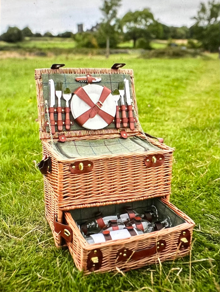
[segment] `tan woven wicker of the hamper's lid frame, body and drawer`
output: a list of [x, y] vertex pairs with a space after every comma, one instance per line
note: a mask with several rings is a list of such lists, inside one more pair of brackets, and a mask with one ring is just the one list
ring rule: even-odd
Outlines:
[[[52, 160], [52, 171], [44, 175], [44, 195], [45, 213], [53, 232], [56, 246], [67, 244], [74, 258], [74, 262], [80, 270], [91, 273], [87, 267], [87, 259], [91, 250], [99, 248], [103, 254], [102, 267], [100, 272], [114, 270], [117, 266], [120, 269], [128, 270], [139, 268], [145, 264], [150, 264], [165, 259], [174, 259], [183, 256], [190, 251], [187, 249], [180, 251], [178, 246], [179, 234], [182, 230], [188, 229], [192, 235], [194, 222], [169, 203], [171, 189], [172, 154], [173, 149], [146, 138], [141, 131], [141, 126], [136, 122], [134, 131], [129, 128], [116, 129], [104, 128], [101, 130], [71, 130], [55, 132], [52, 135], [54, 142], [58, 141], [58, 136], [64, 134], [66, 141], [108, 139], [120, 137], [120, 130], [127, 132], [128, 136], [139, 136], [158, 147], [158, 150], [138, 153], [97, 155], [91, 157], [77, 157], [64, 159], [50, 144], [50, 133], [45, 126], [45, 106], [43, 97], [43, 84], [41, 74], [129, 74], [131, 78], [131, 89], [133, 92], [134, 109], [137, 113], [137, 103], [135, 97], [134, 76], [130, 69], [96, 69], [96, 68], [64, 68], [64, 69], [36, 69], [36, 89], [38, 102], [38, 119], [40, 123], [40, 139], [42, 140], [43, 155], [47, 154]], [[144, 160], [146, 155], [164, 156], [164, 163], [157, 167], [146, 167]], [[70, 172], [71, 165], [76, 161], [91, 160], [93, 169], [91, 172], [73, 174]], [[127, 202], [141, 201], [148, 198], [163, 197], [161, 200], [168, 205], [176, 214], [185, 220], [185, 223], [178, 226], [143, 234], [125, 240], [108, 241], [99, 245], [89, 245], [81, 235], [69, 210], [78, 208], [99, 207], [110, 204], [120, 204]], [[54, 231], [53, 219], [57, 214], [57, 221], [69, 224], [73, 231], [73, 241], [65, 242], [59, 234]], [[115, 252], [120, 248], [131, 250], [144, 249], [147, 246], [156, 244], [159, 239], [167, 242], [167, 247], [160, 254], [141, 259], [139, 261], [128, 260], [127, 262], [117, 262]], [[190, 242], [191, 242], [190, 237]]]

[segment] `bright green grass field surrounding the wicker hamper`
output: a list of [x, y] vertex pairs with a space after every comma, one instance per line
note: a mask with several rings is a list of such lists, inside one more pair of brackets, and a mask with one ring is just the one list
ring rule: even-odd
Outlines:
[[[175, 147], [171, 202], [195, 222], [190, 257], [84, 276], [44, 217], [34, 68], [133, 68], [144, 130]], [[0, 59], [0, 291], [220, 291], [219, 68], [216, 58], [59, 56]]]

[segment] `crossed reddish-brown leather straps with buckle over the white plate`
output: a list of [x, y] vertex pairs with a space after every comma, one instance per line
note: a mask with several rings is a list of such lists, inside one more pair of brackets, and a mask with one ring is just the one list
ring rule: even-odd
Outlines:
[[[91, 107], [88, 111], [84, 112], [82, 115], [78, 116], [75, 121], [84, 125], [89, 118], [92, 118], [98, 114], [101, 118], [109, 125], [113, 121], [114, 117], [109, 115], [107, 112], [101, 110], [102, 103], [106, 100], [107, 96], [111, 93], [111, 90], [103, 86], [102, 93], [96, 104], [90, 99], [89, 95], [85, 92], [83, 87], [79, 87], [74, 91], [74, 94], [78, 95], [81, 100], [83, 100], [87, 105]], [[101, 103], [100, 103], [101, 102]], [[97, 108], [97, 109], [96, 109]], [[92, 113], [93, 112], [93, 113]], [[92, 117], [91, 117], [92, 113]], [[93, 116], [94, 115], [94, 116]]]

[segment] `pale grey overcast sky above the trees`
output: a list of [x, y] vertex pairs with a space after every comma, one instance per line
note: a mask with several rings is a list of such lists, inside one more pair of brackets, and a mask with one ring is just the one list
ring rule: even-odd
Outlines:
[[[99, 22], [102, 0], [0, 0], [0, 33], [8, 26], [23, 29], [29, 26], [32, 32], [50, 31], [57, 35], [64, 31], [77, 31], [83, 23], [84, 30]], [[173, 26], [191, 26], [201, 0], [122, 0], [118, 16], [129, 10], [150, 8], [155, 19]], [[207, 3], [208, 0], [202, 0]]]

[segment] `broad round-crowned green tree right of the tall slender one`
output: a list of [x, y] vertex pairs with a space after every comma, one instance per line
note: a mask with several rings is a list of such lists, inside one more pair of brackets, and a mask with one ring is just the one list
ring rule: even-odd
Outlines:
[[148, 8], [142, 11], [129, 11], [124, 15], [121, 23], [125, 31], [125, 39], [133, 40], [134, 47], [139, 38], [150, 42], [151, 39], [162, 36], [162, 25], [154, 19]]

